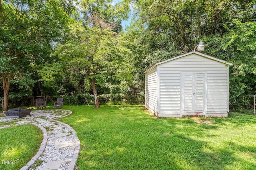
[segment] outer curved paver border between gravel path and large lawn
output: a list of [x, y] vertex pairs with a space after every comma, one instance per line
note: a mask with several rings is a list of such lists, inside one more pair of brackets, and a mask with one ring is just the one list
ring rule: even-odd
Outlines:
[[72, 131], [72, 135], [73, 135], [73, 138], [74, 138], [74, 141], [75, 141], [75, 150], [74, 150], [74, 153], [73, 153], [73, 156], [72, 156], [72, 160], [71, 160], [71, 162], [68, 166], [68, 170], [74, 170], [74, 168], [76, 166], [76, 161], [77, 161], [77, 158], [78, 158], [78, 153], [80, 151], [80, 140], [76, 136], [76, 131], [70, 125], [68, 125], [66, 123], [63, 123], [61, 121], [58, 121], [58, 120], [54, 120], [54, 121], [66, 126], [70, 131]]

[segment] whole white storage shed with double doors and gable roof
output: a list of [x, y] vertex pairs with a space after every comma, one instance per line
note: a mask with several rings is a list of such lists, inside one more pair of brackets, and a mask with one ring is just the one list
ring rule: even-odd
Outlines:
[[231, 65], [194, 51], [154, 64], [144, 72], [146, 109], [157, 117], [227, 117]]

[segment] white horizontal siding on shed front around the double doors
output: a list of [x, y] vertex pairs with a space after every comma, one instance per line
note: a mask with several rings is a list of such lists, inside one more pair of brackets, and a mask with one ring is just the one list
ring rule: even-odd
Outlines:
[[224, 63], [196, 54], [184, 56], [159, 65], [161, 116], [180, 112], [180, 72], [206, 73], [206, 112], [227, 113], [228, 82]]

